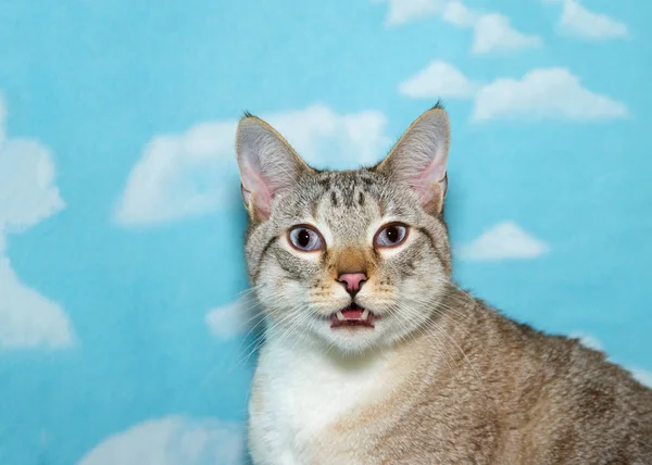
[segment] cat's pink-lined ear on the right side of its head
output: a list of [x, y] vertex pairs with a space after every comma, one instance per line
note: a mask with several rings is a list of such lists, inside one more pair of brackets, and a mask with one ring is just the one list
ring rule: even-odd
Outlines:
[[422, 206], [437, 215], [448, 188], [449, 142], [448, 114], [436, 105], [410, 125], [376, 169], [412, 187]]

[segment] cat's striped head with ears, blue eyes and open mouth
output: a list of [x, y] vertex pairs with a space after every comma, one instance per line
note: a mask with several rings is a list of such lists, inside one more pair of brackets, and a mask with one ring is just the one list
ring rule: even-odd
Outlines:
[[351, 353], [428, 322], [451, 273], [443, 109], [424, 113], [383, 162], [359, 171], [310, 167], [249, 115], [236, 149], [248, 271], [268, 327]]

